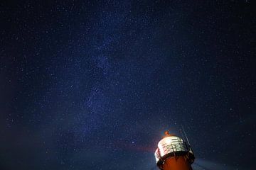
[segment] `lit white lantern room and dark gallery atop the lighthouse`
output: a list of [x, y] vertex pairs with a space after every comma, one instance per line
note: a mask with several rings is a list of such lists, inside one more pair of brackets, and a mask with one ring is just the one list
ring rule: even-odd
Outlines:
[[166, 159], [171, 157], [186, 157], [188, 164], [192, 164], [195, 157], [190, 145], [181, 137], [170, 135], [168, 131], [165, 134], [164, 138], [159, 141], [154, 153], [159, 168], [161, 169]]

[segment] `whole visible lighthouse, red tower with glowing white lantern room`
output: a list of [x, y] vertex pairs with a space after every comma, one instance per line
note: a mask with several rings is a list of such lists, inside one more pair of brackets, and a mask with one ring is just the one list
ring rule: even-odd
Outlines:
[[181, 137], [165, 132], [155, 152], [156, 164], [161, 170], [192, 170], [193, 151]]

